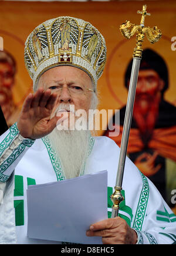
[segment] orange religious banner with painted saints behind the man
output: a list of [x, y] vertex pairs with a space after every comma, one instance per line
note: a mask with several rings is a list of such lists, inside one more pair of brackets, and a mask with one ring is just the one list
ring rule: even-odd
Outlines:
[[[93, 24], [107, 44], [107, 63], [97, 91], [99, 109], [113, 109], [97, 135], [113, 139], [120, 147], [126, 111], [133, 49], [136, 36], [125, 39], [120, 25], [127, 20], [140, 24], [143, 4], [147, 5], [145, 26], [161, 29], [159, 42], [143, 43], [136, 100], [131, 122], [127, 154], [163, 195], [172, 209], [176, 202], [176, 2], [8, 2], [0, 1], [0, 104], [6, 123], [16, 122], [25, 97], [32, 92], [32, 79], [24, 64], [27, 36], [42, 22], [58, 16], [71, 16]], [[63, 32], [65, 29], [66, 32]], [[69, 47], [70, 24], [63, 21], [59, 33], [62, 47]], [[128, 23], [126, 23], [128, 29]], [[37, 35], [37, 31], [36, 31]], [[42, 58], [37, 36], [33, 36], [39, 58]], [[93, 32], [92, 47], [96, 47]], [[2, 51], [3, 50], [3, 51]], [[64, 56], [63, 56], [64, 58]], [[88, 57], [87, 57], [88, 58]], [[116, 118], [119, 115], [120, 120]], [[110, 113], [110, 112], [109, 112]], [[116, 133], [113, 134], [110, 125]], [[114, 177], [116, 179], [116, 177]]]

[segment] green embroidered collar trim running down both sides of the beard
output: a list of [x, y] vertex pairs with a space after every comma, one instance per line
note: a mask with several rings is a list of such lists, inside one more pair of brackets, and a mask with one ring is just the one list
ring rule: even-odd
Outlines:
[[[64, 172], [62, 170], [62, 165], [60, 163], [59, 157], [57, 157], [55, 150], [52, 148], [52, 145], [50, 144], [49, 137], [46, 136], [42, 138], [43, 143], [46, 146], [46, 149], [48, 150], [50, 161], [52, 162], [53, 169], [56, 173], [57, 181], [62, 181], [65, 179]], [[87, 157], [89, 157], [90, 153], [92, 152], [92, 148], [94, 145], [94, 138], [92, 136], [89, 137], [89, 147], [87, 151]], [[86, 159], [87, 159], [86, 157]], [[84, 175], [84, 168], [86, 165], [86, 161], [84, 162], [84, 165], [80, 171], [80, 176]]]

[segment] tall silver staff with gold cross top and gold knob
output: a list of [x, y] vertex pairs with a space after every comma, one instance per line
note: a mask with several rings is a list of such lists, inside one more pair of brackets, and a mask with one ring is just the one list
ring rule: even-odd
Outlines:
[[131, 119], [133, 115], [133, 106], [134, 106], [134, 99], [136, 94], [138, 71], [139, 71], [140, 61], [141, 61], [141, 56], [143, 51], [141, 46], [144, 41], [145, 35], [147, 36], [151, 44], [154, 44], [155, 42], [159, 41], [159, 39], [161, 38], [161, 31], [157, 28], [157, 26], [154, 26], [153, 28], [144, 26], [145, 16], [150, 15], [147, 13], [146, 9], [147, 9], [147, 5], [143, 5], [143, 11], [137, 11], [137, 14], [142, 14], [140, 25], [135, 25], [135, 24], [132, 24], [130, 21], [126, 21], [120, 26], [121, 33], [127, 39], [130, 39], [131, 36], [136, 34], [136, 47], [134, 48], [134, 52], [133, 52], [133, 66], [131, 70], [126, 114], [124, 118], [123, 134], [121, 138], [119, 167], [117, 171], [116, 186], [114, 187], [115, 189], [114, 193], [111, 195], [111, 200], [113, 201], [111, 218], [117, 217], [119, 213], [120, 202], [123, 201], [124, 199], [121, 194], [121, 189], [122, 189], [121, 185], [123, 181], [128, 138], [130, 134]]

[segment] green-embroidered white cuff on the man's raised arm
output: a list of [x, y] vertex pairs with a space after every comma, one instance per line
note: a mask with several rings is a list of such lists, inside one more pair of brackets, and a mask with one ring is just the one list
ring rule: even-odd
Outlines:
[[5, 182], [12, 174], [18, 162], [21, 160], [35, 139], [23, 138], [19, 129], [13, 124], [8, 131], [0, 137], [0, 181]]

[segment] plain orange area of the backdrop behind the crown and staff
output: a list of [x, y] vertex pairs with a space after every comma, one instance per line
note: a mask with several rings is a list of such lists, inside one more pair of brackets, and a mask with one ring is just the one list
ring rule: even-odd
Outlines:
[[[166, 4], [167, 3], [167, 4]], [[147, 39], [144, 48], [157, 51], [167, 62], [170, 72], [170, 88], [165, 99], [176, 105], [175, 70], [176, 51], [171, 50], [171, 38], [176, 36], [175, 1], [130, 1], [130, 2], [8, 2], [0, 1], [0, 36], [4, 38], [4, 49], [16, 59], [18, 72], [13, 87], [15, 103], [22, 106], [23, 99], [31, 90], [32, 81], [23, 62], [24, 43], [31, 31], [47, 19], [57, 16], [75, 16], [89, 21], [104, 35], [107, 43], [107, 64], [99, 79], [100, 105], [102, 109], [120, 109], [127, 101], [124, 87], [124, 72], [133, 54], [135, 37], [124, 39], [119, 25], [129, 19], [139, 24], [143, 4], [151, 16], [145, 18], [145, 25], [155, 25], [163, 32], [163, 37], [154, 45]], [[104, 124], [106, 127], [106, 124]], [[103, 131], [99, 131], [101, 135]]]

